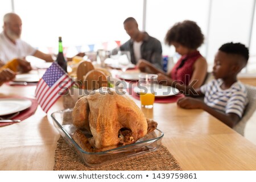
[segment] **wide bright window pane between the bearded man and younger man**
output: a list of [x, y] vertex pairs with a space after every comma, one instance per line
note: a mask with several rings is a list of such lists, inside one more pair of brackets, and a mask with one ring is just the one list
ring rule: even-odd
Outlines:
[[115, 40], [129, 39], [123, 20], [133, 16], [142, 26], [142, 10], [143, 0], [15, 1], [15, 12], [23, 20], [22, 38], [35, 47], [53, 47], [55, 52], [59, 36], [71, 49], [82, 46], [89, 51], [88, 45], [95, 44], [97, 50], [104, 42], [115, 48]]

